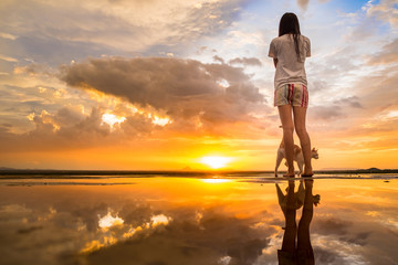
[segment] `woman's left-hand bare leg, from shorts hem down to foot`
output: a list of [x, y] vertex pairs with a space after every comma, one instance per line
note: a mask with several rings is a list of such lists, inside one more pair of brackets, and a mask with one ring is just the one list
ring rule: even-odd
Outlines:
[[294, 125], [292, 119], [292, 106], [284, 105], [277, 107], [282, 128], [283, 128], [283, 144], [286, 152], [286, 162], [287, 162], [287, 176], [294, 177], [294, 166], [293, 166], [293, 131]]

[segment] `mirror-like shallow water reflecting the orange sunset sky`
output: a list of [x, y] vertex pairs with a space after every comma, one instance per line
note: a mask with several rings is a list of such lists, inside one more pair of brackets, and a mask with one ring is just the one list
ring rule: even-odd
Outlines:
[[[144, 177], [2, 177], [0, 264], [277, 264], [287, 180]], [[397, 177], [343, 177], [314, 178], [315, 263], [398, 264]]]

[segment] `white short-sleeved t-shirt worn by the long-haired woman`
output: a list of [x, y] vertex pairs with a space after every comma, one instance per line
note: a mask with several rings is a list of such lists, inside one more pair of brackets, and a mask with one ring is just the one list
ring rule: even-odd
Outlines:
[[293, 34], [284, 34], [272, 40], [269, 56], [277, 59], [274, 86], [301, 83], [307, 85], [304, 68], [305, 57], [311, 56], [310, 39], [298, 35], [300, 62], [294, 47]]

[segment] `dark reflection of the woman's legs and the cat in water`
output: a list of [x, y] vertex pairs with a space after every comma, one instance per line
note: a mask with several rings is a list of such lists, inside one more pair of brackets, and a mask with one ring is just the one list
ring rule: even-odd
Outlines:
[[[303, 213], [296, 225], [295, 216], [297, 209], [297, 195], [294, 193], [294, 180], [289, 181], [286, 205], [285, 205], [285, 232], [282, 241], [282, 248], [277, 251], [279, 264], [315, 264], [314, 252], [310, 239], [310, 223], [313, 218], [313, 205], [320, 202], [320, 195], [313, 197], [313, 180], [304, 180], [305, 193]], [[276, 186], [280, 198], [281, 189]], [[280, 200], [281, 201], [281, 200]], [[282, 208], [282, 205], [281, 205]], [[300, 208], [300, 206], [298, 206]], [[283, 208], [282, 208], [283, 211]], [[296, 246], [297, 236], [297, 246]]]

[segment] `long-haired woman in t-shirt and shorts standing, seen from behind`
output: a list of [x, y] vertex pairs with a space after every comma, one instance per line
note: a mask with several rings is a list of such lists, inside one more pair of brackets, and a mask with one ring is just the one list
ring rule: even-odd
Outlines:
[[294, 177], [294, 129], [304, 156], [305, 166], [302, 177], [311, 177], [313, 176], [311, 140], [305, 127], [308, 92], [304, 68], [305, 57], [311, 56], [311, 44], [310, 39], [301, 34], [298, 19], [294, 13], [285, 13], [281, 18], [279, 36], [272, 40], [269, 56], [273, 57], [276, 68], [274, 106], [277, 106], [283, 128], [287, 161], [287, 173], [284, 177]]

